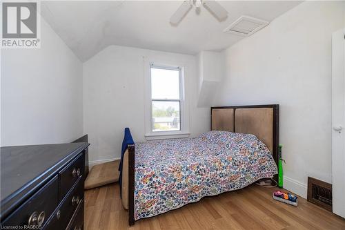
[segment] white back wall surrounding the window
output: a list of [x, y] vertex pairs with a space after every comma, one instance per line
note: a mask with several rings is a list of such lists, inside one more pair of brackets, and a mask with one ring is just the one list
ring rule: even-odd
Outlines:
[[109, 46], [83, 64], [83, 128], [89, 135], [90, 163], [120, 157], [124, 128], [144, 141], [145, 59], [184, 63], [191, 136], [208, 131], [210, 108], [197, 108], [196, 57]]

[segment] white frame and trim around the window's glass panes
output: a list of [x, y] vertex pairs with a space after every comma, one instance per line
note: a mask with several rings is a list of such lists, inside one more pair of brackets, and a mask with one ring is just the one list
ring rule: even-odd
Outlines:
[[[189, 117], [188, 117], [188, 103], [186, 102], [185, 93], [185, 67], [183, 64], [177, 64], [172, 61], [160, 62], [160, 61], [144, 61], [145, 66], [145, 130], [146, 140], [159, 140], [170, 138], [183, 138], [188, 137], [189, 133]], [[179, 131], [153, 131], [152, 120], [152, 99], [151, 97], [151, 68], [161, 68], [167, 70], [179, 70], [179, 101], [180, 104], [180, 130]], [[172, 99], [166, 99], [166, 101], [173, 101]]]

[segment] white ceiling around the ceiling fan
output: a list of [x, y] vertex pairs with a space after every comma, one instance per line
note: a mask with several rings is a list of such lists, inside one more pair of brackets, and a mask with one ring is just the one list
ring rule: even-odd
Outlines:
[[201, 8], [190, 10], [178, 26], [169, 23], [181, 1], [42, 1], [41, 15], [86, 61], [110, 45], [195, 55], [221, 50], [243, 37], [224, 33], [242, 15], [273, 21], [300, 1], [218, 1], [228, 18], [217, 21]]

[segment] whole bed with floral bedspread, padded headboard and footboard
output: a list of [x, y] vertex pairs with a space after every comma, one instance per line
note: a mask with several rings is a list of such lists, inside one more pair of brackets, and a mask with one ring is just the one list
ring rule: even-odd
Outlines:
[[205, 196], [277, 180], [279, 105], [210, 109], [210, 132], [199, 137], [134, 143], [126, 128], [121, 202], [129, 224]]

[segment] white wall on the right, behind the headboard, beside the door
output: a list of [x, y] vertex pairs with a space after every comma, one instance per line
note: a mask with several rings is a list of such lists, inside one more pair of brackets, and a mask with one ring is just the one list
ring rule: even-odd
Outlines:
[[344, 15], [344, 1], [307, 1], [224, 51], [215, 104], [280, 104], [284, 186], [302, 196], [308, 176], [331, 182], [331, 35]]

